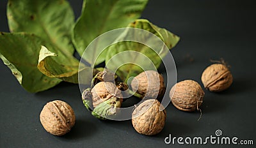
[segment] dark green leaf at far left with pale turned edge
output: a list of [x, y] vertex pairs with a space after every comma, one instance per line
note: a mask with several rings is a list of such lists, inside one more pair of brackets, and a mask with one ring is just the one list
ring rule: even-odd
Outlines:
[[44, 91], [61, 82], [49, 78], [37, 68], [40, 45], [45, 42], [33, 34], [1, 33], [0, 57], [19, 83], [29, 92]]

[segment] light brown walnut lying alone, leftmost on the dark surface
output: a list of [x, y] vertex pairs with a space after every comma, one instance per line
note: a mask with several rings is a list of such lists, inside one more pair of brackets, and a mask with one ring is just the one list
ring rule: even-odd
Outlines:
[[40, 121], [52, 135], [65, 135], [74, 126], [76, 117], [73, 109], [64, 101], [48, 102], [41, 111]]

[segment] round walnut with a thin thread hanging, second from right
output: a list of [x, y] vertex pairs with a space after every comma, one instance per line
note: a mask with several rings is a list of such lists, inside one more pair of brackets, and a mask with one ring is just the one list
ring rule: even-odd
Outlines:
[[204, 91], [194, 80], [184, 80], [172, 87], [170, 98], [172, 104], [179, 110], [193, 112], [202, 105]]

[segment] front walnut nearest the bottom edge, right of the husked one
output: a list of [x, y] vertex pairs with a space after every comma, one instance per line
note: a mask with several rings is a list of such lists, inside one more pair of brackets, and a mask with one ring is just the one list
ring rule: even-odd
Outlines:
[[143, 135], [156, 135], [164, 128], [166, 111], [160, 111], [163, 107], [157, 100], [143, 101], [132, 112], [132, 125], [134, 129]]

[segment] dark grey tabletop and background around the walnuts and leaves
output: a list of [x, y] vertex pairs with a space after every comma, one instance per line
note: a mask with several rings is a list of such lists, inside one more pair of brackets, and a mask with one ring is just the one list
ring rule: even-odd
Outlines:
[[[71, 2], [76, 17], [82, 0]], [[209, 137], [221, 129], [223, 135], [256, 142], [255, 115], [255, 2], [252, 1], [150, 1], [142, 17], [178, 34], [172, 50], [178, 81], [200, 81], [209, 59], [223, 57], [232, 66], [234, 83], [223, 93], [205, 90], [202, 118], [199, 112], [181, 112], [172, 104], [166, 108], [163, 131], [154, 137], [136, 133], [131, 121], [99, 121], [84, 108], [78, 85], [61, 83], [42, 93], [31, 94], [0, 62], [0, 147], [202, 147], [166, 145], [164, 138]], [[100, 10], [99, 10], [100, 11]], [[6, 0], [0, 1], [0, 31], [8, 31]], [[190, 61], [193, 59], [193, 62]], [[167, 90], [169, 91], [169, 90]], [[63, 137], [47, 133], [39, 114], [47, 101], [61, 99], [72, 106], [76, 125]], [[234, 145], [203, 145], [234, 147]], [[237, 147], [253, 147], [237, 145]]]

